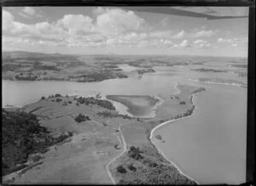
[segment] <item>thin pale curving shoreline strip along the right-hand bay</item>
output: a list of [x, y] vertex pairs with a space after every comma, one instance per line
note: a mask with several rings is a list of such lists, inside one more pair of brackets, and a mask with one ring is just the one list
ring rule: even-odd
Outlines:
[[[178, 83], [177, 83], [177, 84], [178, 84]], [[176, 86], [176, 87], [177, 87], [177, 86]], [[202, 93], [202, 92], [199, 92], [199, 93]], [[193, 102], [193, 101], [194, 101], [194, 98], [195, 98], [195, 93], [192, 94], [192, 104], [194, 103], [194, 102]], [[195, 105], [195, 104], [193, 104], [193, 105]], [[195, 106], [195, 108], [196, 108], [196, 106]], [[194, 110], [195, 110], [195, 109], [194, 109]], [[191, 114], [190, 116], [193, 115], [194, 110], [193, 110], [193, 112], [192, 112], [192, 114]], [[153, 141], [152, 141], [152, 138], [153, 138], [153, 133], [154, 133], [154, 131], [155, 131], [156, 129], [158, 129], [159, 127], [162, 127], [162, 126], [166, 125], [167, 123], [172, 123], [173, 121], [178, 121], [178, 120], [182, 120], [182, 119], [185, 119], [185, 118], [189, 118], [190, 116], [186, 116], [186, 117], [182, 117], [182, 118], [177, 118], [177, 119], [170, 120], [170, 121], [165, 121], [165, 122], [161, 123], [160, 125], [154, 127], [154, 128], [151, 130], [150, 136], [149, 136], [151, 143], [154, 144]], [[194, 178], [191, 178], [191, 177], [189, 177], [189, 175], [187, 175], [187, 174], [185, 174], [184, 172], [182, 172], [182, 171], [181, 171], [181, 168], [180, 168], [179, 166], [177, 166], [177, 164], [176, 164], [175, 162], [169, 160], [169, 159], [166, 157], [166, 155], [164, 154], [164, 152], [163, 152], [162, 150], [160, 150], [160, 149], [157, 147], [156, 144], [154, 144], [154, 147], [158, 150], [158, 152], [160, 153], [160, 155], [162, 155], [164, 158], [166, 158], [167, 161], [169, 161], [174, 167], [177, 168], [177, 171], [178, 171], [180, 174], [182, 174], [184, 177], [187, 177], [187, 178], [189, 178], [190, 180], [194, 181], [196, 184], [200, 185], [200, 183], [199, 183], [198, 181], [196, 181]]]

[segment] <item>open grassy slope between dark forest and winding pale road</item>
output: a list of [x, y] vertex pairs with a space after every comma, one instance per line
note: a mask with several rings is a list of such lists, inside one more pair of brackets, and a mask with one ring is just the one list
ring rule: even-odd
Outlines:
[[[111, 183], [104, 170], [106, 164], [122, 150], [114, 148], [115, 144], [121, 146], [116, 128], [119, 122], [135, 120], [102, 118], [96, 113], [112, 110], [97, 105], [78, 106], [74, 97], [61, 99], [59, 103], [52, 102], [52, 99], [39, 100], [26, 105], [23, 110], [38, 115], [41, 126], [51, 132], [74, 132], [73, 140], [52, 146], [43, 155], [44, 163], [16, 178], [15, 183]], [[72, 101], [72, 104], [64, 106], [64, 101]], [[79, 113], [90, 116], [93, 121], [77, 123], [73, 116]], [[108, 126], [102, 126], [102, 121], [107, 120]]]

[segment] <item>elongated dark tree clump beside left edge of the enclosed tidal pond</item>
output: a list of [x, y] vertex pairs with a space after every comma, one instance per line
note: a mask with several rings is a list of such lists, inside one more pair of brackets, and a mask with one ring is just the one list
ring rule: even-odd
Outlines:
[[79, 104], [86, 104], [86, 105], [97, 104], [97, 105], [102, 106], [108, 110], [115, 110], [115, 107], [113, 106], [113, 104], [108, 100], [95, 99], [93, 97], [90, 97], [90, 98], [79, 97], [79, 99], [77, 99], [77, 101], [79, 102]]

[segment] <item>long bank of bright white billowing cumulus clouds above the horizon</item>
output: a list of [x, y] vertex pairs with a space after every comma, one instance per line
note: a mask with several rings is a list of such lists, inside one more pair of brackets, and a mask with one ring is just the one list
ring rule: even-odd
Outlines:
[[[3, 37], [8, 37], [9, 43], [12, 41], [20, 45], [24, 42], [32, 45], [69, 47], [199, 48], [210, 45], [200, 39], [190, 45], [188, 40], [183, 38], [210, 36], [211, 31], [152, 31], [147, 22], [132, 11], [121, 8], [95, 8], [93, 11], [93, 17], [65, 14], [54, 22], [25, 24], [16, 21], [12, 14], [3, 10]], [[35, 14], [30, 8], [24, 8], [23, 12]], [[15, 38], [19, 42], [15, 42]], [[174, 39], [183, 41], [174, 44]]]

